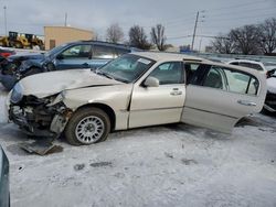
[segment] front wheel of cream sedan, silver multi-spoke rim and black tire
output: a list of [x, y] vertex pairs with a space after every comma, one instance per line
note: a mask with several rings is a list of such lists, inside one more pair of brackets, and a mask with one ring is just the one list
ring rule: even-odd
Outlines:
[[103, 142], [110, 132], [110, 119], [99, 108], [87, 107], [77, 110], [70, 119], [64, 134], [72, 145], [89, 145]]

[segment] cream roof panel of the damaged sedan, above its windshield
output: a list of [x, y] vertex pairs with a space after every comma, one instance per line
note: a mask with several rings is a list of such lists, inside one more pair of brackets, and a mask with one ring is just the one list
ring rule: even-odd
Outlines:
[[163, 53], [163, 52], [135, 52], [134, 55], [144, 56], [156, 62], [160, 61], [194, 61], [194, 62], [208, 62], [201, 57], [191, 55], [183, 55], [179, 53]]

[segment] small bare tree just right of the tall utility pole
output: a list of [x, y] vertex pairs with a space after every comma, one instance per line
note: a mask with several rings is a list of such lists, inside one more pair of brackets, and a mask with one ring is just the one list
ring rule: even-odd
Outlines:
[[231, 54], [234, 52], [234, 42], [231, 40], [230, 35], [222, 35], [220, 34], [217, 37], [212, 41], [212, 46], [214, 47], [215, 52], [222, 54]]

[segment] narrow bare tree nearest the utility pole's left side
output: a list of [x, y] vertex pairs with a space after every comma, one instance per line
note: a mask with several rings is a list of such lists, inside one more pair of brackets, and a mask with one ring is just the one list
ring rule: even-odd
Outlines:
[[162, 24], [157, 24], [151, 28], [151, 42], [157, 46], [159, 51], [166, 51], [168, 45], [166, 45], [164, 26]]

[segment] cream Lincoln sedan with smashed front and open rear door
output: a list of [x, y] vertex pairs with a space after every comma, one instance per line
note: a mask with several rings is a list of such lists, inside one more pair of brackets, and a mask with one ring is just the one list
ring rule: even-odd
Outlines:
[[258, 112], [265, 75], [181, 54], [132, 53], [97, 70], [21, 79], [8, 97], [9, 118], [28, 134], [71, 144], [106, 140], [114, 130], [184, 122], [231, 132]]

